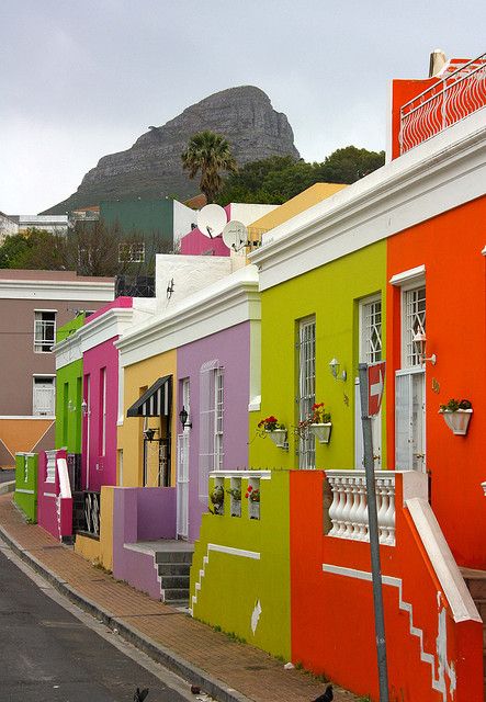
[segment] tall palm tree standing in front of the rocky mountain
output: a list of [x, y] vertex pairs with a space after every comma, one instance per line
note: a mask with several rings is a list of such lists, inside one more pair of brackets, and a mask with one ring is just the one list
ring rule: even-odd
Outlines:
[[189, 170], [189, 178], [194, 178], [201, 170], [201, 192], [208, 203], [214, 202], [223, 185], [221, 171], [236, 172], [238, 167], [231, 155], [227, 139], [214, 132], [194, 134], [182, 154], [182, 168]]

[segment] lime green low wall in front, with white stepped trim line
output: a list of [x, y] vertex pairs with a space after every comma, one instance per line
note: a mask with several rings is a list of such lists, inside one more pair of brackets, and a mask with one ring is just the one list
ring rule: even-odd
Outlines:
[[[197, 601], [190, 600], [196, 619], [285, 660], [291, 656], [289, 484], [287, 471], [260, 480], [260, 520], [248, 517], [248, 478], [242, 479], [241, 517], [230, 516], [227, 494], [224, 516], [203, 514], [191, 567], [191, 596], [196, 593]], [[225, 489], [229, 487], [226, 478]], [[245, 552], [260, 556], [250, 558]], [[253, 634], [251, 615], [258, 601], [261, 614]]]

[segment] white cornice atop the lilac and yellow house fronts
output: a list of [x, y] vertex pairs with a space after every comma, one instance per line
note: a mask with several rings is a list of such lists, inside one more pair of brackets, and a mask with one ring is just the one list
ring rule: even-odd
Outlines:
[[258, 271], [247, 265], [187, 297], [169, 313], [133, 327], [114, 346], [122, 353], [122, 365], [127, 366], [255, 319], [260, 319]]

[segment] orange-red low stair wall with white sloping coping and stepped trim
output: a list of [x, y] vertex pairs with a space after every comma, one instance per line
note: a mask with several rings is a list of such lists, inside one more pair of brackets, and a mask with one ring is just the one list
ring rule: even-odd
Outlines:
[[[482, 622], [425, 499], [427, 476], [391, 475], [395, 545], [381, 545], [391, 700], [481, 700]], [[325, 485], [320, 471], [291, 475], [292, 659], [377, 700], [370, 544], [325, 534]]]

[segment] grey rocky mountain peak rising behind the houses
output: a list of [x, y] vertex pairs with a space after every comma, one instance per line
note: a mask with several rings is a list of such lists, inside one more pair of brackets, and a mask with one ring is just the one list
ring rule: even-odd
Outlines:
[[103, 156], [84, 176], [76, 193], [41, 214], [64, 214], [101, 200], [159, 197], [180, 200], [199, 192], [199, 179], [182, 170], [181, 154], [196, 132], [225, 136], [241, 166], [269, 156], [294, 156], [294, 134], [286, 116], [253, 86], [216, 92], [187, 107], [160, 127], [149, 127], [126, 151]]

